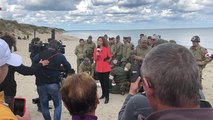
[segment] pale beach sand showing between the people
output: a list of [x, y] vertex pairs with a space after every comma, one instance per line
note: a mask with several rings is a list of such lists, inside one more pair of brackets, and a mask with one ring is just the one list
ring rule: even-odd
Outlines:
[[[49, 34], [37, 34], [37, 37], [40, 37], [44, 42], [47, 42], [47, 38], [50, 37]], [[32, 36], [30, 37], [30, 40]], [[71, 63], [71, 66], [76, 70], [76, 56], [74, 54], [75, 46], [78, 45], [78, 38], [65, 36], [61, 34], [56, 34], [57, 40], [62, 40], [63, 44], [66, 45], [65, 56], [68, 61]], [[17, 40], [18, 51], [16, 53], [20, 54], [23, 58], [23, 64], [31, 66], [30, 53], [28, 52], [30, 40]], [[96, 40], [94, 40], [96, 41]], [[210, 101], [213, 104], [213, 88], [212, 88], [212, 78], [213, 78], [213, 62], [210, 62], [203, 71], [203, 91], [206, 96], [206, 100]], [[17, 81], [17, 96], [25, 97], [27, 100], [27, 108], [30, 111], [32, 120], [43, 120], [43, 116], [40, 112], [37, 111], [37, 106], [32, 104], [32, 99], [38, 97], [36, 92], [35, 77], [34, 76], [23, 76], [16, 73]], [[99, 95], [101, 95], [100, 86], [98, 87]], [[117, 120], [118, 112], [126, 98], [126, 95], [116, 95], [110, 94], [110, 100], [108, 104], [104, 104], [104, 100], [100, 100], [100, 104], [96, 109], [96, 115], [99, 120]], [[53, 107], [52, 101], [49, 102], [50, 106]], [[63, 106], [63, 105], [62, 105]], [[53, 116], [53, 110], [50, 109], [51, 116]], [[71, 117], [67, 109], [63, 106], [62, 120], [70, 120]]]

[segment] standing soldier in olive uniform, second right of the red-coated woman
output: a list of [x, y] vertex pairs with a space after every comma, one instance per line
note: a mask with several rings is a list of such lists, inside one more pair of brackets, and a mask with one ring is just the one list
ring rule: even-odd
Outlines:
[[120, 36], [116, 36], [116, 42], [115, 42], [115, 59], [119, 62], [122, 59], [122, 50], [123, 50], [123, 44], [120, 42]]

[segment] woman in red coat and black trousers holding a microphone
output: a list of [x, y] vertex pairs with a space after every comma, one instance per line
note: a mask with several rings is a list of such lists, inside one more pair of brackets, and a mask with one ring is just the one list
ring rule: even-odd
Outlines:
[[111, 71], [110, 61], [112, 55], [110, 54], [107, 40], [102, 36], [97, 40], [97, 48], [94, 49], [93, 57], [96, 63], [95, 69], [98, 79], [101, 83], [102, 96], [100, 99], [105, 97], [104, 103], [107, 104], [109, 102], [109, 73]]

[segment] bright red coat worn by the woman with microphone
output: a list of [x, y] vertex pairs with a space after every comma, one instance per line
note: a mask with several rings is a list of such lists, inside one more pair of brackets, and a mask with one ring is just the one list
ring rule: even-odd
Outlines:
[[[110, 49], [108, 47], [104, 47], [102, 46], [100, 54], [97, 56], [97, 48], [94, 49], [94, 60], [96, 63], [96, 72], [110, 72], [111, 68], [110, 68], [110, 61], [112, 59], [112, 55], [110, 53]], [[109, 58], [107, 61], [104, 61], [104, 58]]]

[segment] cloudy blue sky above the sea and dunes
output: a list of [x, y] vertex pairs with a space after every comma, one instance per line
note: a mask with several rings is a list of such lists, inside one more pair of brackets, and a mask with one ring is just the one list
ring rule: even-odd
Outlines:
[[65, 30], [213, 27], [213, 0], [0, 0], [0, 18]]

